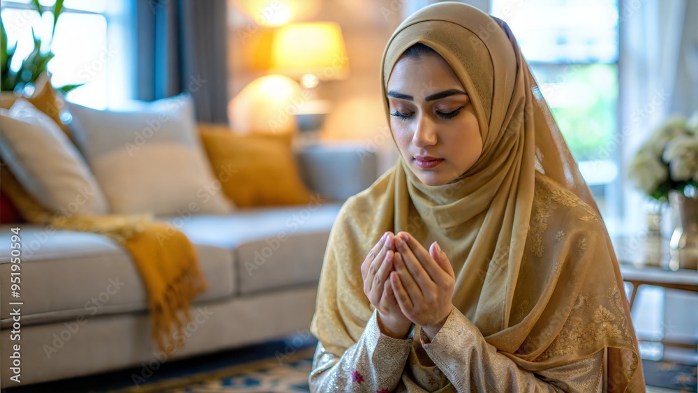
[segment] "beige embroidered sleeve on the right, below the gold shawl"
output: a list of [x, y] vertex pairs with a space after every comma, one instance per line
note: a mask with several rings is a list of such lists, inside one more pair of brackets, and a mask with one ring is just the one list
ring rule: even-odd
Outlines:
[[604, 351], [533, 373], [498, 353], [455, 308], [433, 341], [423, 332], [420, 338], [458, 392], [596, 392], [602, 386]]

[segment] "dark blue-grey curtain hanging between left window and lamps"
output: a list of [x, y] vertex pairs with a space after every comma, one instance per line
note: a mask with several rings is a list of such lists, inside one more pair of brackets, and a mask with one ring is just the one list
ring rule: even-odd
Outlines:
[[199, 121], [228, 122], [225, 0], [134, 0], [136, 98], [192, 95]]

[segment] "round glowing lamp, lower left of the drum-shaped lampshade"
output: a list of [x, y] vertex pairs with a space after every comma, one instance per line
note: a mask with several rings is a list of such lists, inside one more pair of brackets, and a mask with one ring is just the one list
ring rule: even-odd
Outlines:
[[298, 82], [283, 75], [267, 75], [248, 84], [228, 104], [236, 133], [292, 133], [293, 116], [302, 100]]

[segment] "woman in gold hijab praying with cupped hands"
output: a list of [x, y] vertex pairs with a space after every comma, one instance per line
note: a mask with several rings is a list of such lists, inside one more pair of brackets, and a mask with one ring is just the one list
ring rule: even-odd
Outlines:
[[419, 10], [383, 55], [401, 158], [322, 267], [316, 392], [640, 392], [606, 228], [507, 25]]

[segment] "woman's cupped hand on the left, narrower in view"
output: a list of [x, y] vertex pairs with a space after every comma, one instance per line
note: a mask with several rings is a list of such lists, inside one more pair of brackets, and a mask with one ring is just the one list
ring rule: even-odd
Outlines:
[[364, 294], [378, 311], [380, 331], [395, 339], [404, 339], [412, 322], [402, 313], [395, 299], [394, 288], [388, 280], [394, 271], [395, 235], [385, 232], [378, 243], [366, 255], [361, 265], [364, 278]]

